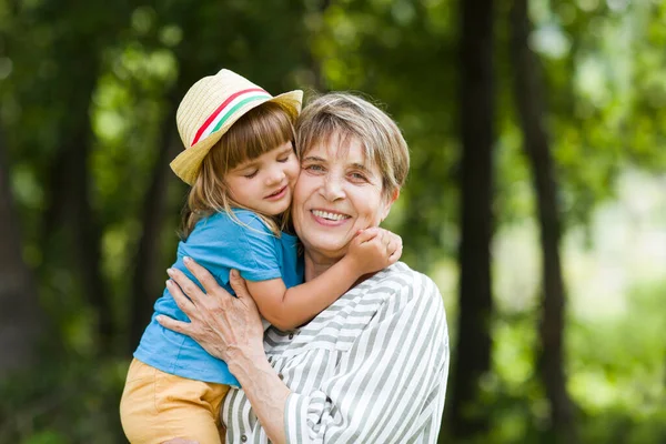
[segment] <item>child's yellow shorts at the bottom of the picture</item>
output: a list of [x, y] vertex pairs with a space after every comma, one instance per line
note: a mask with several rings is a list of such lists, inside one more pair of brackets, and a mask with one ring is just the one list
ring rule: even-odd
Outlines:
[[133, 360], [120, 401], [122, 428], [132, 444], [175, 437], [223, 444], [220, 406], [229, 385], [171, 375]]

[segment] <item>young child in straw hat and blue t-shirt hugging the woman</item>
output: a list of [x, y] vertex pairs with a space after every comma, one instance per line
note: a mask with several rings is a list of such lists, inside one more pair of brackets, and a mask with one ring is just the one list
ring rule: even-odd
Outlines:
[[[194, 258], [230, 292], [229, 272], [239, 270], [263, 317], [280, 330], [306, 323], [363, 274], [398, 259], [379, 248], [377, 230], [363, 231], [341, 261], [303, 283], [297, 239], [282, 231], [300, 173], [293, 123], [302, 94], [271, 97], [229, 70], [201, 79], [180, 103], [185, 150], [171, 163], [192, 185], [173, 268], [196, 282], [183, 263]], [[120, 413], [128, 438], [224, 442], [219, 411], [238, 381], [196, 342], [158, 324], [158, 314], [186, 320], [164, 290], [127, 376]]]

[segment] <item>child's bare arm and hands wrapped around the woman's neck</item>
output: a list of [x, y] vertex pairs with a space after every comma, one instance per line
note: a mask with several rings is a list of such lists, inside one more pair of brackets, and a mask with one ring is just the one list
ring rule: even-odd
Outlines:
[[282, 279], [248, 281], [261, 314], [280, 330], [303, 325], [342, 296], [364, 274], [385, 269], [402, 254], [398, 235], [380, 228], [362, 231], [349, 252], [324, 273], [286, 289]]

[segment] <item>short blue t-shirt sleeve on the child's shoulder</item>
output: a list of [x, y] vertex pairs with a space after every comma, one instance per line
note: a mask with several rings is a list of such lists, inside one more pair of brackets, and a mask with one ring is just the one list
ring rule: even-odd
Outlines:
[[251, 212], [239, 212], [236, 216], [234, 221], [226, 214], [215, 214], [201, 221], [183, 244], [183, 254], [223, 283], [229, 282], [231, 269], [249, 281], [282, 278], [274, 234]]

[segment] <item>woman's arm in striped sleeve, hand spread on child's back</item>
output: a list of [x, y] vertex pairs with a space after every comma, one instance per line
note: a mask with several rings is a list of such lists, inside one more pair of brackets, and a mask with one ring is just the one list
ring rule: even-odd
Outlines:
[[191, 262], [188, 266], [209, 296], [182, 273], [173, 273], [191, 296], [192, 301], [173, 291], [192, 323], [159, 321], [228, 362], [271, 441], [400, 443], [417, 436], [436, 441], [448, 341], [442, 299], [427, 278], [410, 282], [401, 275], [382, 283], [381, 292], [397, 286], [395, 294], [384, 305], [386, 310], [380, 310], [366, 325], [334, 374], [315, 390], [292, 393], [268, 363], [256, 307], [238, 275], [231, 281], [236, 301], [205, 270]]

